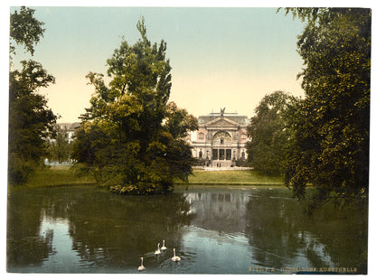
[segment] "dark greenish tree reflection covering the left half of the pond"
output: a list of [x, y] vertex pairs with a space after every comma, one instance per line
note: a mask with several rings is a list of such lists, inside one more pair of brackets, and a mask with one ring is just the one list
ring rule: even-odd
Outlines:
[[180, 247], [181, 227], [192, 219], [182, 193], [136, 197], [51, 188], [14, 191], [8, 205], [8, 271], [37, 266], [52, 254], [53, 232], [41, 232], [43, 217], [69, 222], [72, 249], [82, 260], [118, 268], [137, 266], [163, 239], [171, 250]]

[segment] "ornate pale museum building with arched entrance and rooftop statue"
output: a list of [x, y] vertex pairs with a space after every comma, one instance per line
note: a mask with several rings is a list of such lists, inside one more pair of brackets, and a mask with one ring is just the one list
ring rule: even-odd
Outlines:
[[193, 157], [205, 166], [231, 167], [247, 159], [249, 118], [238, 113], [211, 113], [198, 117], [199, 129], [188, 136]]

